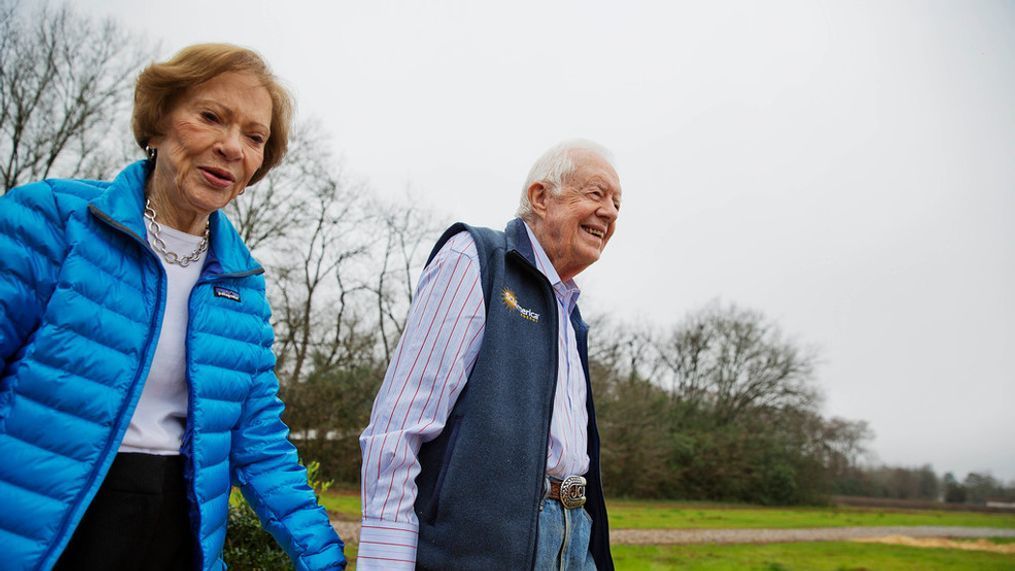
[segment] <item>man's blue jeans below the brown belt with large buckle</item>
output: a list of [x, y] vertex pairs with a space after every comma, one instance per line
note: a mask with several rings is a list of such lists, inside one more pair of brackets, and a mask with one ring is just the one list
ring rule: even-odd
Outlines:
[[584, 507], [564, 509], [544, 498], [539, 511], [536, 571], [596, 571], [589, 553], [592, 517]]

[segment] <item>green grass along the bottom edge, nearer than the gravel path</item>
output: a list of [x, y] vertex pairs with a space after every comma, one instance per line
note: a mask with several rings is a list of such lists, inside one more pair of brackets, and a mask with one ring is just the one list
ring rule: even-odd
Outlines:
[[921, 549], [849, 542], [614, 546], [617, 569], [698, 571], [1012, 570], [1015, 556], [953, 549]]

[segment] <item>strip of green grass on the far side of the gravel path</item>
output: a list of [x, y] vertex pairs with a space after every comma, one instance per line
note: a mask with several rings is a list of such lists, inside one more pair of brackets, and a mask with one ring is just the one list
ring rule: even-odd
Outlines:
[[[359, 496], [329, 493], [325, 507], [359, 518]], [[872, 525], [961, 525], [1015, 528], [1015, 514], [857, 507], [757, 507], [736, 504], [608, 500], [615, 529], [789, 529]]]

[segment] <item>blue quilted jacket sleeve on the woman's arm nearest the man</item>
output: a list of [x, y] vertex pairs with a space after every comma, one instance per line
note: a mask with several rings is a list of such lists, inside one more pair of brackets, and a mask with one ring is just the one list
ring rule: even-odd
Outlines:
[[268, 362], [254, 379], [232, 432], [232, 480], [297, 570], [344, 569], [342, 541], [308, 486], [307, 471], [281, 421], [274, 356], [270, 349], [265, 353]]

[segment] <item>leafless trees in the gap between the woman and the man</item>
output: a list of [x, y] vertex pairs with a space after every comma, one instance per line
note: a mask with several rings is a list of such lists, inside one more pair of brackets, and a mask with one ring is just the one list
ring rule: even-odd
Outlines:
[[412, 282], [433, 237], [426, 211], [388, 204], [347, 176], [303, 123], [284, 163], [230, 203], [266, 262], [285, 420], [332, 477], [358, 478], [358, 435], [404, 328]]

